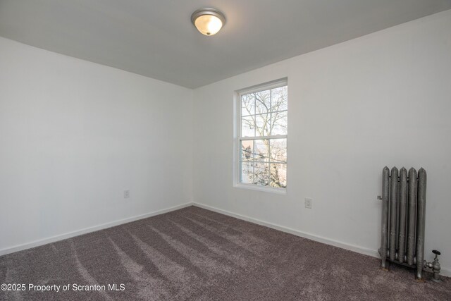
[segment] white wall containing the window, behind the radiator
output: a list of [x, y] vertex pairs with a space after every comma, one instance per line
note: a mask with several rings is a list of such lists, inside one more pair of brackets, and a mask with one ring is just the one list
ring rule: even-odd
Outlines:
[[[422, 166], [426, 259], [450, 275], [450, 29], [445, 11], [194, 90], [194, 202], [375, 255], [382, 168]], [[233, 92], [285, 76], [288, 192], [233, 188]]]

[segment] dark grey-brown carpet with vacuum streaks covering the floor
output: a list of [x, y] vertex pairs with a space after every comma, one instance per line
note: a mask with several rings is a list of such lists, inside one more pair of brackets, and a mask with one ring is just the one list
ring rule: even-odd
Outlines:
[[[427, 274], [420, 283], [411, 269], [379, 264], [188, 207], [0, 257], [0, 283], [61, 285], [58, 293], [0, 291], [0, 299], [451, 300], [450, 278], [437, 284]], [[105, 290], [74, 291], [74, 283]]]

